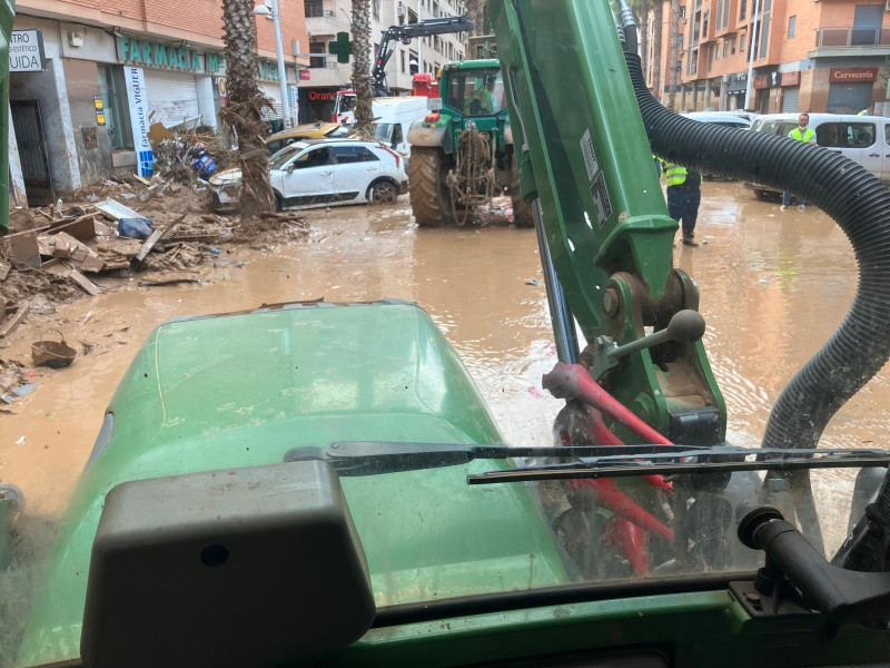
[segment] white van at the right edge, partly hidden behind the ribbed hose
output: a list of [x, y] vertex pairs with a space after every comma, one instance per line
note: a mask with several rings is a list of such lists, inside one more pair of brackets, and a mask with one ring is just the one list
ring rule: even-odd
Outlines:
[[[800, 114], [758, 116], [751, 124], [751, 131], [788, 137], [791, 130], [798, 127], [799, 116]], [[851, 114], [810, 114], [810, 127], [815, 130], [815, 143], [819, 146], [847, 156], [884, 184], [890, 184], [890, 118]], [[744, 185], [758, 196], [779, 191], [749, 181]]]

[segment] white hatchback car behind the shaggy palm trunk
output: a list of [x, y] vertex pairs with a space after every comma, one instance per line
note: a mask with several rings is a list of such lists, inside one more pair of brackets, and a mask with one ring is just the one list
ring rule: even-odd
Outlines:
[[[407, 190], [405, 161], [379, 141], [312, 139], [286, 146], [269, 160], [278, 210], [345, 204], [387, 204]], [[241, 170], [226, 169], [210, 180], [214, 210], [237, 213]]]

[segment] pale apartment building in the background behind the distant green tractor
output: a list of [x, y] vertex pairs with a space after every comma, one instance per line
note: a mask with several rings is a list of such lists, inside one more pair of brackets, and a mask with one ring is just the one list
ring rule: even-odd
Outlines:
[[[309, 68], [301, 73], [299, 88], [300, 120], [329, 120], [337, 90], [352, 86], [352, 65], [342, 65], [327, 56], [327, 42], [337, 32], [350, 29], [350, 0], [304, 0], [309, 40]], [[436, 17], [463, 13], [461, 0], [370, 0], [374, 55], [382, 33], [398, 23], [414, 23]], [[437, 35], [399, 43], [386, 67], [386, 78], [394, 95], [407, 95], [417, 72], [438, 71], [445, 62], [464, 59], [461, 35]]]

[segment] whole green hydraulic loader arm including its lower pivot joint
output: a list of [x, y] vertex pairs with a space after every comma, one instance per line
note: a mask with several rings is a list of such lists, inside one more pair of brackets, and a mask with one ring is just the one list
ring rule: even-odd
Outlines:
[[678, 225], [607, 0], [492, 0], [490, 12], [560, 360], [580, 361], [675, 442], [723, 442], [725, 405], [701, 341], [643, 341], [698, 311], [698, 286], [672, 266]]

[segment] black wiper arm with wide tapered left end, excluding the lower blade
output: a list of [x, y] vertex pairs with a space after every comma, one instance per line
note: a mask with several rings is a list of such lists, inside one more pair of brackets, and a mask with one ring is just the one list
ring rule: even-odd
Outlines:
[[515, 458], [577, 459], [633, 454], [635, 456], [693, 456], [709, 448], [690, 445], [565, 445], [514, 446], [503, 443], [399, 443], [390, 441], [338, 441], [327, 448], [294, 448], [286, 462], [319, 460], [328, 462], [340, 475], [376, 475], [467, 464], [473, 460]]

